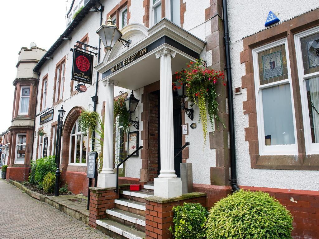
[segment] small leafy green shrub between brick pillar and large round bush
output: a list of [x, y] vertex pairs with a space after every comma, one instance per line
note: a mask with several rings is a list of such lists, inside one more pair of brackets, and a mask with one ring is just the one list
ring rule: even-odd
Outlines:
[[174, 226], [169, 230], [177, 239], [205, 238], [208, 212], [199, 203], [186, 203], [173, 207]]

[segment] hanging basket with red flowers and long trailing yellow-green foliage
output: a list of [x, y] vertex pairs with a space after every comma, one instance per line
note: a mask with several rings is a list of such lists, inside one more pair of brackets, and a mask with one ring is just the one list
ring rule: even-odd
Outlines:
[[197, 59], [196, 62], [189, 62], [187, 69], [175, 72], [176, 81], [173, 82], [173, 89], [186, 86], [186, 92], [190, 106], [197, 105], [199, 107], [199, 121], [202, 122], [204, 144], [206, 145], [207, 131], [207, 114], [211, 122], [211, 127], [214, 128], [214, 120], [224, 123], [218, 116], [218, 102], [216, 98], [219, 94], [216, 92], [217, 84], [225, 83], [225, 75], [223, 71], [208, 69], [206, 62], [202, 59]]

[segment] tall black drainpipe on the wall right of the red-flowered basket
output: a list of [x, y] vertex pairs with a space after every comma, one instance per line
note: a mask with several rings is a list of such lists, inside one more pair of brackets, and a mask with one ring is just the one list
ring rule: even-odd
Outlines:
[[234, 103], [233, 103], [233, 84], [232, 84], [232, 67], [230, 64], [230, 50], [229, 50], [229, 31], [228, 31], [228, 15], [227, 15], [227, 1], [223, 0], [223, 17], [224, 17], [224, 40], [225, 40], [225, 54], [226, 54], [226, 74], [227, 74], [227, 92], [228, 92], [228, 108], [229, 108], [229, 136], [230, 136], [230, 166], [231, 177], [230, 185], [234, 191], [240, 190], [237, 185], [236, 173], [236, 150], [235, 150], [235, 126], [234, 126]]

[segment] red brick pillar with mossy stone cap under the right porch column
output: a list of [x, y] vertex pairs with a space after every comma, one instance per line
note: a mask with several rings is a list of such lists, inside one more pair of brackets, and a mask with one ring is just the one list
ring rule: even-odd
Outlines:
[[[200, 203], [205, 206], [206, 193], [191, 192], [176, 198], [147, 197], [145, 211], [146, 239], [171, 239], [169, 227], [173, 226], [173, 207], [184, 202]], [[91, 215], [91, 214], [90, 214]]]

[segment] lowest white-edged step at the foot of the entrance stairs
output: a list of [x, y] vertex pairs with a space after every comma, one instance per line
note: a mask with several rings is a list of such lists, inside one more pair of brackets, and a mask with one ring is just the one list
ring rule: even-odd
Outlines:
[[122, 235], [126, 238], [130, 239], [144, 239], [145, 233], [138, 231], [136, 229], [132, 229], [128, 226], [125, 226], [121, 223], [109, 220], [109, 219], [102, 219], [102, 220], [96, 220], [96, 224], [109, 230], [112, 232], [115, 232], [119, 235]]

